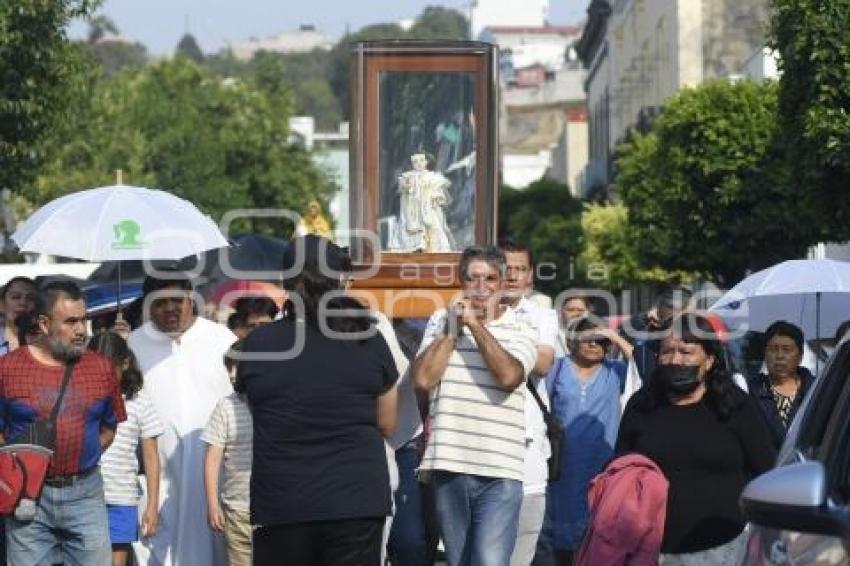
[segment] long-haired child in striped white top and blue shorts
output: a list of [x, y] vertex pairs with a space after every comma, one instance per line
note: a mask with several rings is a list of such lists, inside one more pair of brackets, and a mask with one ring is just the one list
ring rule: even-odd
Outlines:
[[100, 332], [92, 337], [89, 350], [112, 360], [127, 409], [127, 420], [118, 425], [115, 440], [100, 459], [112, 541], [112, 564], [124, 566], [128, 563], [131, 544], [139, 540], [138, 505], [142, 495], [136, 453], [139, 441], [147, 482], [147, 504], [141, 516], [141, 535], [149, 537], [156, 532], [159, 519], [159, 453], [156, 438], [163, 433], [163, 426], [142, 391], [142, 372], [127, 342], [115, 332]]

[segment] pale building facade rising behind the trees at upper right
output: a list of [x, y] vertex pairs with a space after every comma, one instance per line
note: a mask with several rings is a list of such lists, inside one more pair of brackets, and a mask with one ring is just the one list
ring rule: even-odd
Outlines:
[[740, 76], [766, 21], [767, 0], [592, 0], [576, 47], [589, 108], [583, 192], [610, 183], [616, 145], [649, 127], [667, 98]]

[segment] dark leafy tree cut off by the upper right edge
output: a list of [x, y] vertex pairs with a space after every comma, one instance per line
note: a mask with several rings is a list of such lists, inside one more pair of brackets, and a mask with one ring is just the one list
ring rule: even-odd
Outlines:
[[779, 116], [800, 207], [824, 239], [850, 239], [850, 0], [773, 0]]

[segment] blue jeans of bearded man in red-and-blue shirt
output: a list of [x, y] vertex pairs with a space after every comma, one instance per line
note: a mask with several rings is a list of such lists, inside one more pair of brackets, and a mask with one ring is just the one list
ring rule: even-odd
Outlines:
[[45, 485], [32, 521], [6, 519], [9, 564], [109, 566], [112, 545], [100, 470], [66, 487]]

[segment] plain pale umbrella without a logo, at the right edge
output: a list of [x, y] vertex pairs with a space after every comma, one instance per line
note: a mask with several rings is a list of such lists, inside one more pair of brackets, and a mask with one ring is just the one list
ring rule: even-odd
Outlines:
[[784, 261], [750, 275], [709, 310], [730, 328], [764, 331], [777, 320], [787, 320], [807, 339], [832, 336], [850, 319], [850, 263]]

